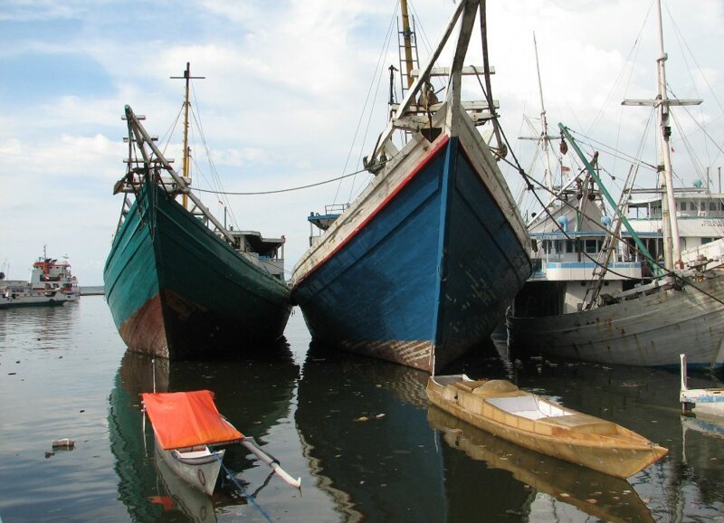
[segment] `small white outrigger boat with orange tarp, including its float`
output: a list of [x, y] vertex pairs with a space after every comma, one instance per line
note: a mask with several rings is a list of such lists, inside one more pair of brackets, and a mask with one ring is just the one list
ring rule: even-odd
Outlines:
[[156, 435], [157, 452], [176, 475], [196, 489], [214, 493], [224, 460], [221, 447], [234, 443], [245, 446], [292, 487], [300, 488], [300, 479], [291, 478], [278, 460], [226, 421], [216, 409], [211, 391], [145, 393], [141, 397]]

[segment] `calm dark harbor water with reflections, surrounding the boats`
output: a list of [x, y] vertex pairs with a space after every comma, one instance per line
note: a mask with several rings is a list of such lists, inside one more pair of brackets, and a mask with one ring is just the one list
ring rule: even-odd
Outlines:
[[[520, 387], [667, 447], [629, 480], [520, 449], [429, 407], [426, 375], [310, 345], [300, 311], [265, 356], [171, 363], [125, 352], [101, 296], [0, 310], [0, 519], [14, 521], [724, 521], [724, 428], [680, 415], [679, 376], [481, 347], [451, 372]], [[499, 346], [500, 347], [500, 346]], [[685, 349], [685, 347], [682, 347]], [[138, 394], [208, 388], [243, 433], [213, 499], [154, 456]], [[723, 386], [691, 376], [691, 386]], [[52, 441], [75, 440], [72, 451]]]

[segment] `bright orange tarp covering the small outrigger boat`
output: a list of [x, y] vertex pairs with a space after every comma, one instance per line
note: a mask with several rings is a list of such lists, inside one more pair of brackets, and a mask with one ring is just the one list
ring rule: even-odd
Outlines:
[[219, 414], [211, 391], [147, 393], [141, 397], [163, 449], [243, 439], [243, 434]]

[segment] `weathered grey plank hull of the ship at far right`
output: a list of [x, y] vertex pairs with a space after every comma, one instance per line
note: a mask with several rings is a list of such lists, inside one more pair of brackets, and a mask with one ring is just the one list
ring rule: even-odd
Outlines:
[[662, 289], [634, 300], [559, 316], [506, 324], [513, 351], [542, 352], [611, 365], [724, 368], [724, 270], [693, 281], [696, 288]]

